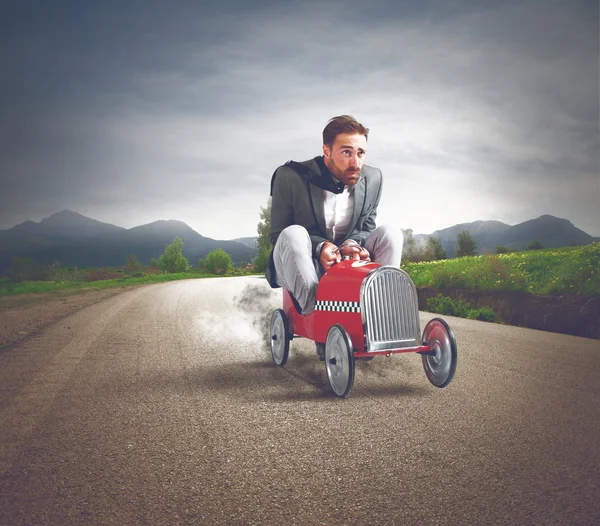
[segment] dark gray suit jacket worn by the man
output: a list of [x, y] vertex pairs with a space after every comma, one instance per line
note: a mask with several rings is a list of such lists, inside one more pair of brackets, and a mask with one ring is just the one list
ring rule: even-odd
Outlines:
[[[381, 170], [363, 165], [361, 177], [354, 187], [354, 211], [348, 233], [342, 239], [329, 239], [325, 226], [323, 189], [314, 183], [330, 179], [331, 176], [318, 160], [320, 158], [315, 157], [300, 163], [306, 168], [305, 173], [299, 173], [288, 165], [280, 166], [271, 181], [271, 243], [275, 245], [284, 228], [302, 225], [310, 235], [314, 258], [322, 241], [339, 245], [347, 239], [354, 239], [363, 245], [367, 236], [375, 230], [382, 187]], [[323, 173], [323, 170], [327, 173]], [[278, 287], [272, 257], [266, 277], [272, 287]]]

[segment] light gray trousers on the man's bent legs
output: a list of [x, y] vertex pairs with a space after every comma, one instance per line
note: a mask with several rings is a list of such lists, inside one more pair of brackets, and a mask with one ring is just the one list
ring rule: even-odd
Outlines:
[[[399, 267], [403, 240], [402, 230], [382, 225], [371, 232], [364, 247], [371, 254], [371, 261]], [[312, 244], [306, 228], [291, 225], [284, 229], [275, 243], [273, 261], [277, 284], [293, 294], [303, 314], [312, 312], [323, 270], [312, 257]]]

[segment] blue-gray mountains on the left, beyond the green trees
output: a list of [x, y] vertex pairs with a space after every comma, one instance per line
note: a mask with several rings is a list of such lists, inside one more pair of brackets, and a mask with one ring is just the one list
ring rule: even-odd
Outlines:
[[125, 229], [65, 210], [40, 223], [25, 221], [0, 230], [0, 272], [15, 256], [44, 265], [59, 261], [66, 267], [85, 268], [123, 265], [128, 254], [135, 254], [141, 263], [150, 264], [176, 237], [183, 239], [183, 254], [192, 265], [216, 248], [225, 250], [236, 264], [256, 254], [243, 243], [201, 236], [181, 221]]

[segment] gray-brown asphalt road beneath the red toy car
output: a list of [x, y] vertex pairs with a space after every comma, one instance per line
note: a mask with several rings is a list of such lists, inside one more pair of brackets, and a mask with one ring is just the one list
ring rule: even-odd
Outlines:
[[600, 341], [445, 317], [447, 388], [377, 357], [343, 400], [271, 362], [280, 298], [151, 285], [1, 352], [0, 524], [600, 523]]

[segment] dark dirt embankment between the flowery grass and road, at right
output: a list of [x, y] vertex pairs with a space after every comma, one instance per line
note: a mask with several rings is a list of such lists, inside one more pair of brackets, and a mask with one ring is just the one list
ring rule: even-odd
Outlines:
[[491, 307], [504, 323], [600, 338], [600, 298], [594, 296], [532, 296], [521, 292], [478, 292], [462, 289], [418, 290], [419, 309], [427, 310], [427, 299], [438, 294], [466, 301], [474, 307]]

